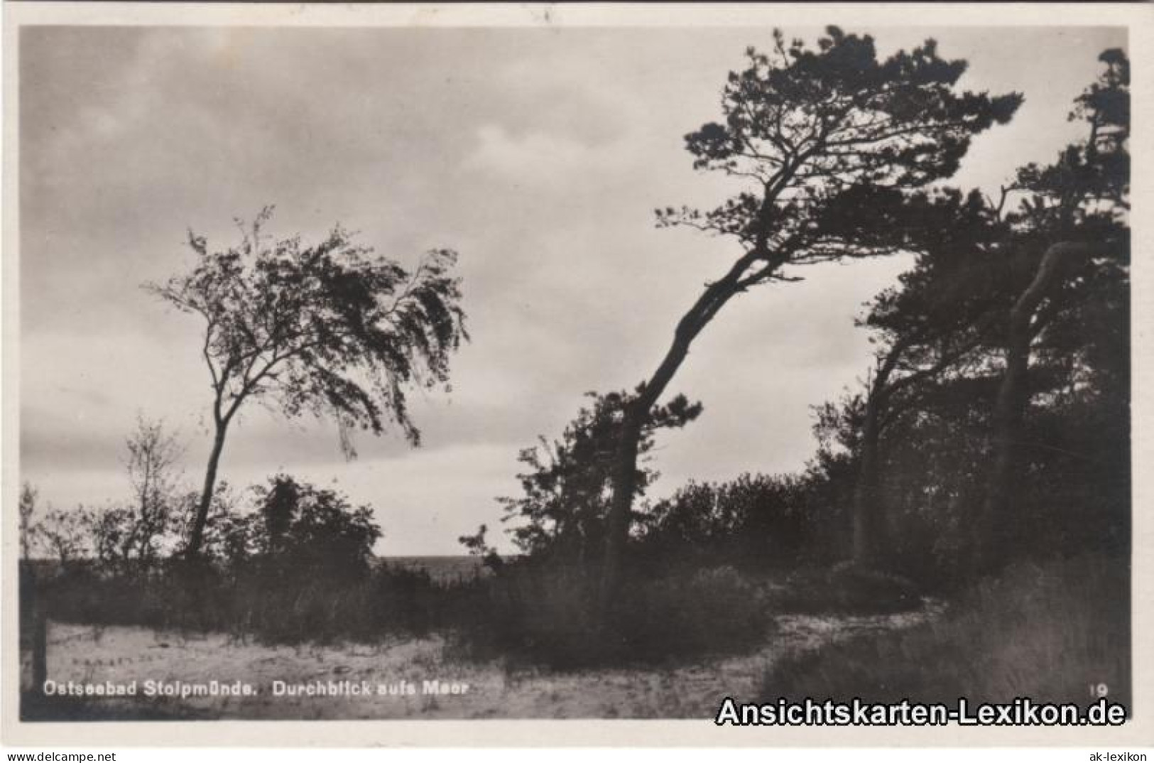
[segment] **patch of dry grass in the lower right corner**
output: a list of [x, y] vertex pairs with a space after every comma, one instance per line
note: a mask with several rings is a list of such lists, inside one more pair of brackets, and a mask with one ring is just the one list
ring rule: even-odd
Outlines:
[[774, 666], [762, 698], [1130, 702], [1130, 574], [1096, 556], [1011, 567], [941, 619]]

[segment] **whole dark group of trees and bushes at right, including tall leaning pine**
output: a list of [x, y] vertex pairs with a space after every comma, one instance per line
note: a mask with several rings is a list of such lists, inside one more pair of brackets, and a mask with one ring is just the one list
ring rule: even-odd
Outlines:
[[[600, 526], [585, 522], [579, 532], [605, 537], [599, 561], [610, 588], [623, 558], [654, 554], [762, 566], [852, 559], [959, 581], [1022, 556], [1123, 553], [1125, 54], [1103, 52], [1102, 75], [1073, 104], [1084, 136], [1048, 165], [1007, 171], [996, 199], [928, 184], [953, 172], [969, 136], [1009, 120], [1020, 96], [956, 93], [965, 63], [939, 59], [932, 42], [878, 62], [868, 37], [831, 29], [817, 51], [787, 48], [779, 36], [773, 57], [750, 55], [726, 85], [726, 124], [687, 142], [696, 166], [748, 178], [760, 192], [713, 212], [659, 212], [661, 224], [733, 235], [745, 255], [679, 324], [658, 374], [621, 398], [612, 435], [583, 411], [550, 463], [537, 449], [523, 454], [533, 467], [522, 476], [525, 493], [504, 499], [523, 521], [514, 530], [523, 551], [576, 543], [570, 528], [587, 513]], [[861, 388], [817, 407], [819, 448], [804, 472], [644, 499], [651, 477], [638, 455], [667, 426], [654, 405], [727, 299], [795, 278], [788, 265], [899, 250], [914, 254], [913, 267], [859, 319], [874, 362]], [[607, 446], [583, 455], [583, 439], [615, 440], [612, 464]], [[595, 498], [546, 495], [549, 480], [595, 485]]]

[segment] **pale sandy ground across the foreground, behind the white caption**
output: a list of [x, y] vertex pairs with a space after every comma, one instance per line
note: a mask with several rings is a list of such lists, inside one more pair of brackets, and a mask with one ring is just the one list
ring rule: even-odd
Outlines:
[[[343, 646], [267, 646], [224, 635], [183, 637], [147, 628], [59, 624], [48, 636], [48, 679], [119, 686], [136, 682], [130, 700], [97, 698], [178, 717], [240, 719], [357, 718], [706, 718], [725, 696], [757, 697], [770, 664], [871, 630], [913, 624], [932, 612], [869, 618], [786, 615], [760, 650], [670, 668], [574, 673], [508, 671], [500, 664], [454, 659], [439, 637]], [[252, 696], [143, 696], [147, 681], [175, 687], [211, 681], [248, 683]], [[275, 694], [275, 682], [351, 686], [367, 695]], [[426, 681], [462, 694], [426, 693]], [[340, 685], [339, 682], [349, 682]], [[364, 683], [362, 683], [364, 682]], [[451, 686], [440, 687], [451, 689]], [[178, 689], [179, 690], [179, 689]]]

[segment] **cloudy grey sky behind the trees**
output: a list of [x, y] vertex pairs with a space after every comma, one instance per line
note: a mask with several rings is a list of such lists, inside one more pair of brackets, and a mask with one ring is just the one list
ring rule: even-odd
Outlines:
[[[817, 30], [786, 29], [814, 39]], [[932, 36], [971, 62], [961, 85], [1018, 90], [1014, 121], [980, 137], [954, 179], [996, 189], [1079, 133], [1065, 121], [1117, 29], [875, 28], [883, 53]], [[719, 115], [729, 69], [769, 28], [24, 28], [21, 110], [21, 459], [58, 507], [127, 492], [137, 413], [209, 446], [201, 323], [140, 284], [192, 263], [193, 229], [226, 246], [234, 217], [334, 224], [406, 263], [460, 253], [473, 342], [451, 394], [418, 394], [418, 450], [257, 406], [225, 447], [235, 485], [287, 471], [376, 507], [387, 554], [452, 554], [499, 524], [516, 456], [556, 435], [586, 390], [631, 387], [734, 256], [732, 242], [655, 230], [652, 210], [733, 190], [695, 172], [684, 133]], [[809, 406], [868, 366], [853, 317], [908, 261], [823, 265], [726, 307], [672, 388], [705, 413], [666, 436], [654, 495], [690, 478], [803, 465]], [[505, 546], [507, 547], [507, 546]]]

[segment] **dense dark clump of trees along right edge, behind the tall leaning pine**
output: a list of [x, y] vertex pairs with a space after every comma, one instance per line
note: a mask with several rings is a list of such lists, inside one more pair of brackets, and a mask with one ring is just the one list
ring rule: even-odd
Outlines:
[[855, 463], [860, 562], [958, 585], [980, 556], [1125, 551], [1126, 66], [1102, 60], [1071, 115], [1088, 137], [997, 203], [928, 199], [914, 268], [860, 321], [875, 366], [822, 411]]

